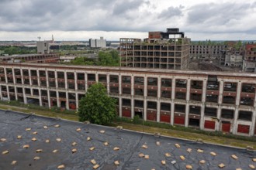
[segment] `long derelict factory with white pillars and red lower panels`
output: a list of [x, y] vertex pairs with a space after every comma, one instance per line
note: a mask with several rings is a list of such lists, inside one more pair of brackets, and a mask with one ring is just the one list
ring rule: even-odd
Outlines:
[[254, 73], [0, 63], [1, 100], [75, 110], [95, 82], [118, 100], [119, 117], [256, 134]]

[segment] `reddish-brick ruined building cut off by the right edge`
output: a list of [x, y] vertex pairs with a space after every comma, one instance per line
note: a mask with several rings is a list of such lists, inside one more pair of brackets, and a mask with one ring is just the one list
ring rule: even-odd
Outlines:
[[243, 70], [256, 73], [256, 43], [245, 45]]

